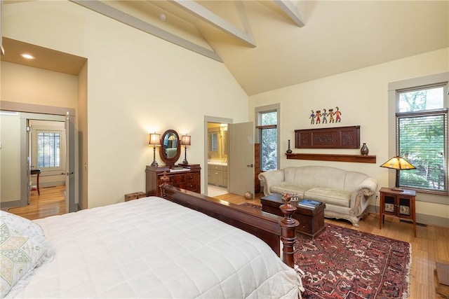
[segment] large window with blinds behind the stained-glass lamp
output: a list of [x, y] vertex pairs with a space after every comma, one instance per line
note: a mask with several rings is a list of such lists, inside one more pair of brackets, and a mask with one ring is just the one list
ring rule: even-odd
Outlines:
[[416, 167], [396, 174], [401, 187], [448, 193], [447, 92], [447, 83], [397, 91], [397, 152]]

